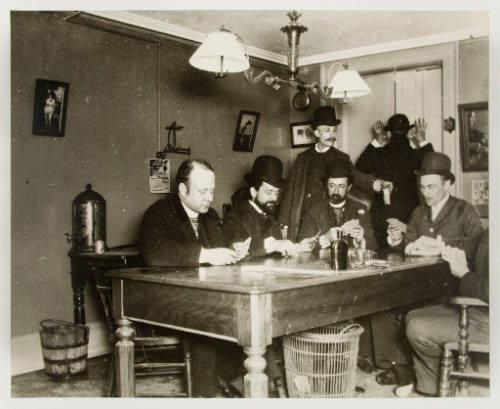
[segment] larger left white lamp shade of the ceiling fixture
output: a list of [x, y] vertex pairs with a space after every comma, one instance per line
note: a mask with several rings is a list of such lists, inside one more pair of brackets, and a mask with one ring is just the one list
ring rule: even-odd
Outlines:
[[208, 34], [189, 59], [189, 64], [200, 70], [216, 73], [242, 72], [250, 68], [241, 44], [228, 31]]

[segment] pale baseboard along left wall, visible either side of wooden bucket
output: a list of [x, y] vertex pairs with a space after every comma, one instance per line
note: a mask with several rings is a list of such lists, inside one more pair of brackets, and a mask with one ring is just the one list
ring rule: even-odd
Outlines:
[[[89, 331], [88, 357], [108, 354], [112, 345], [108, 342], [108, 327], [104, 322], [87, 323]], [[42, 345], [38, 332], [11, 340], [11, 375], [21, 375], [44, 368]]]

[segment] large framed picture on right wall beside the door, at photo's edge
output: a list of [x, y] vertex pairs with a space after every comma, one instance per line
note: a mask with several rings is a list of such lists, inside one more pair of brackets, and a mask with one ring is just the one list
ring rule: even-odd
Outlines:
[[488, 171], [488, 102], [460, 104], [458, 114], [463, 171]]

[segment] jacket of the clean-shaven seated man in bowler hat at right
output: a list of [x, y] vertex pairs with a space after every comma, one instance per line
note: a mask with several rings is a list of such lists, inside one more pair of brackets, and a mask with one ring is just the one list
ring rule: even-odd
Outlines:
[[420, 236], [436, 238], [441, 235], [447, 245], [465, 251], [471, 266], [482, 232], [476, 209], [465, 200], [450, 196], [434, 221], [431, 208], [427, 205], [421, 204], [413, 211], [404, 235], [404, 244], [411, 243]]

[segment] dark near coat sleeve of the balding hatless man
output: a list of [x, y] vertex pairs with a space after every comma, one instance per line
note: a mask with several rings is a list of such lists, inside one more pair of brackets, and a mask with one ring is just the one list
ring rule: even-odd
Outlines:
[[140, 249], [147, 266], [192, 267], [199, 265], [201, 244], [189, 242], [182, 224], [172, 215], [149, 208], [140, 228]]

